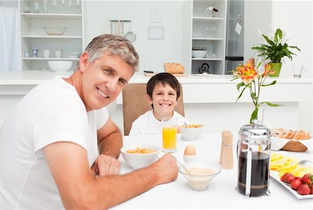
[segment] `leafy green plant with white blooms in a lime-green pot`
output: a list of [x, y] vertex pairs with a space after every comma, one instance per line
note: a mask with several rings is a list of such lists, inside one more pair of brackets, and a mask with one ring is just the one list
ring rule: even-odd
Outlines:
[[262, 37], [264, 38], [264, 43], [252, 47], [252, 49], [257, 50], [257, 56], [269, 61], [268, 63], [271, 65], [271, 69], [275, 70], [275, 73], [271, 74], [271, 76], [279, 76], [280, 68], [282, 67], [282, 58], [288, 57], [292, 60], [292, 56], [296, 54], [289, 49], [298, 49], [298, 51], [300, 51], [300, 49], [296, 46], [289, 46], [287, 44], [287, 40], [284, 39], [281, 29], [276, 29], [273, 37], [268, 38], [264, 34], [262, 34]]

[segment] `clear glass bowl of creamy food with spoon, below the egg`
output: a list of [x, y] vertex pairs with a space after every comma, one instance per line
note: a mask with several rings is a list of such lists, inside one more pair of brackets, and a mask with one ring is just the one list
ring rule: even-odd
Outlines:
[[[187, 171], [188, 170], [188, 171]], [[214, 163], [189, 162], [185, 168], [179, 165], [178, 171], [184, 175], [188, 184], [194, 191], [205, 191], [210, 181], [218, 175], [222, 169]]]

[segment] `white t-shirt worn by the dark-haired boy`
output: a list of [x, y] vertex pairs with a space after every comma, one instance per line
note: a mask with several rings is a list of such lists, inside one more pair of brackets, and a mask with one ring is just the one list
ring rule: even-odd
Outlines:
[[[177, 125], [188, 122], [186, 118], [174, 111], [173, 118], [177, 118]], [[129, 135], [162, 134], [162, 122], [153, 115], [153, 110], [147, 111], [137, 118], [131, 125]]]

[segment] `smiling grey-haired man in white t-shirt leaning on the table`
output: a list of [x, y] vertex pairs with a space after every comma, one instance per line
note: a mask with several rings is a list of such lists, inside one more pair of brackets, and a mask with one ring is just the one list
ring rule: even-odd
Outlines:
[[177, 178], [170, 154], [118, 175], [122, 136], [103, 107], [137, 66], [130, 42], [99, 35], [69, 78], [19, 102], [0, 131], [0, 209], [108, 209]]

